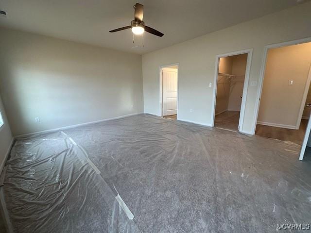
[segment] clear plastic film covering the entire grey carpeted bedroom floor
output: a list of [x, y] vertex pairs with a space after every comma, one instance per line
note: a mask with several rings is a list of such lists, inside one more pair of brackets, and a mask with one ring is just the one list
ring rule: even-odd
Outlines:
[[267, 233], [311, 223], [300, 146], [151, 115], [16, 140], [14, 233]]

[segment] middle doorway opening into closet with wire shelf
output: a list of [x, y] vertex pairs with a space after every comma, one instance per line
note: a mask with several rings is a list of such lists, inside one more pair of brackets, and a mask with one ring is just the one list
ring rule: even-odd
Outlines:
[[217, 56], [213, 126], [241, 131], [252, 50]]

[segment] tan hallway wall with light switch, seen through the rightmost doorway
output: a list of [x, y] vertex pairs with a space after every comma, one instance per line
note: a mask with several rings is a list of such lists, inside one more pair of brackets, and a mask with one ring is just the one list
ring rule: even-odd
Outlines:
[[268, 50], [259, 123], [296, 126], [310, 65], [311, 43]]

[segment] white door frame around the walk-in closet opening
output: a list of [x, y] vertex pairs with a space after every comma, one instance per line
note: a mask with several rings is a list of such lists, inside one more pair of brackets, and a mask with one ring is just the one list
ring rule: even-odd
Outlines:
[[218, 72], [219, 72], [219, 61], [222, 57], [230, 57], [235, 55], [241, 55], [247, 53], [247, 61], [246, 61], [246, 70], [245, 70], [245, 78], [243, 84], [243, 92], [242, 92], [242, 102], [241, 102], [241, 110], [240, 110], [240, 118], [239, 118], [239, 126], [238, 131], [243, 133], [243, 123], [244, 123], [244, 115], [245, 115], [245, 105], [247, 99], [247, 89], [249, 83], [249, 75], [251, 70], [252, 58], [253, 58], [253, 49], [246, 49], [246, 50], [239, 50], [234, 52], [228, 52], [223, 54], [216, 55], [216, 62], [215, 62], [215, 76], [214, 76], [214, 88], [213, 88], [213, 99], [212, 99], [212, 106], [213, 111], [211, 111], [211, 122], [212, 127], [214, 127], [215, 123], [215, 111], [216, 111], [216, 96], [217, 96], [217, 82], [218, 82]]

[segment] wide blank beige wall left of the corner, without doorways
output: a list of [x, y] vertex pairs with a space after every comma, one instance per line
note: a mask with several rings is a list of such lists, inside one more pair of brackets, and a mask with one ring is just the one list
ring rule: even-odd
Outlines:
[[0, 34], [0, 91], [14, 135], [143, 111], [140, 55], [3, 28]]

